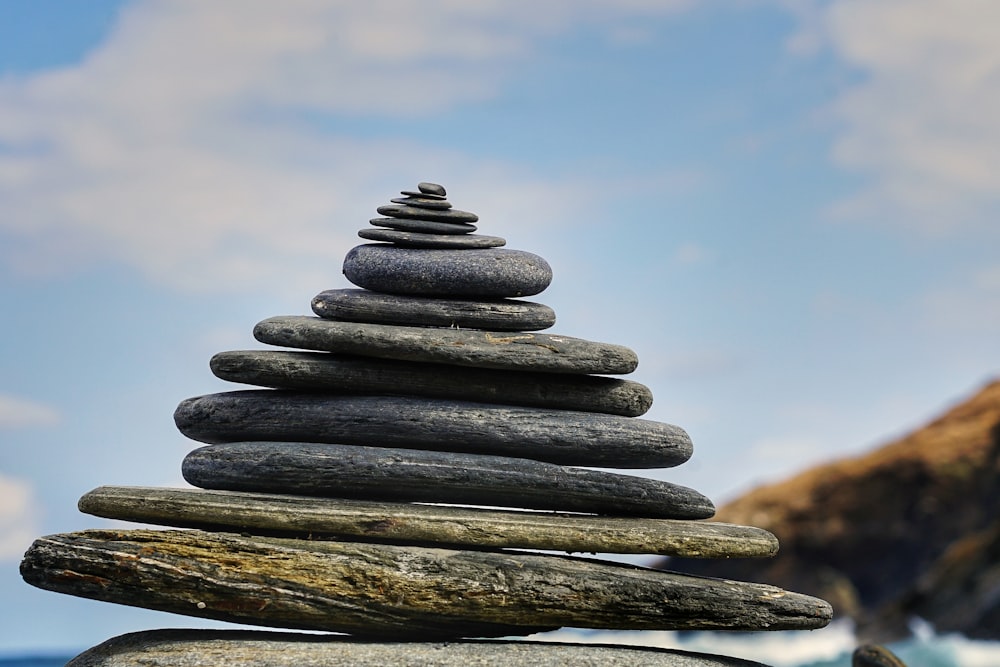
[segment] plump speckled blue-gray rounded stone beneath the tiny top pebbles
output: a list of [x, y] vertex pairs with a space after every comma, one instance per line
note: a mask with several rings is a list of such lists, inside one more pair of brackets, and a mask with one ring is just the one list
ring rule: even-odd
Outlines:
[[507, 248], [434, 250], [360, 245], [344, 258], [344, 275], [358, 287], [389, 294], [520, 297], [552, 282], [548, 262]]

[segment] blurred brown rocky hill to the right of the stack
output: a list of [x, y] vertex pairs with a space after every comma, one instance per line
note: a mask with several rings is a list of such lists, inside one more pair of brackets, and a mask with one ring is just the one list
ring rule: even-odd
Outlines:
[[770, 530], [778, 556], [660, 565], [817, 595], [865, 639], [903, 637], [912, 616], [1000, 638], [1000, 381], [875, 451], [754, 489], [715, 520]]

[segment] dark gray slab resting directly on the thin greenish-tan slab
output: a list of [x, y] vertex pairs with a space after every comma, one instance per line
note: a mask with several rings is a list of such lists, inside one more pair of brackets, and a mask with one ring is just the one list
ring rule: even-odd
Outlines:
[[530, 459], [295, 442], [200, 447], [182, 466], [203, 489], [454, 503], [651, 519], [707, 519], [712, 501], [670, 482]]

